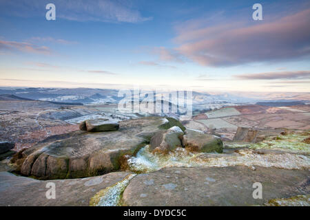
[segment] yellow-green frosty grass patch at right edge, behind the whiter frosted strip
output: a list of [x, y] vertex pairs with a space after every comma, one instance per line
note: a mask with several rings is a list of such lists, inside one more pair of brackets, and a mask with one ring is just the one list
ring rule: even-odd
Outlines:
[[293, 153], [310, 153], [310, 144], [304, 142], [309, 137], [309, 132], [291, 133], [287, 135], [279, 135], [278, 137], [267, 137], [259, 143], [227, 143], [229, 148], [249, 147], [252, 149], [282, 149]]

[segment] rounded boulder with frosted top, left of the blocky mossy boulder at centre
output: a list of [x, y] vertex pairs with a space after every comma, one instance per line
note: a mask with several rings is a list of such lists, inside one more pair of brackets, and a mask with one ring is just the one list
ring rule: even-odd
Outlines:
[[152, 152], [167, 153], [178, 146], [181, 147], [180, 139], [183, 134], [183, 131], [178, 126], [173, 126], [167, 131], [160, 131], [151, 138], [149, 150]]

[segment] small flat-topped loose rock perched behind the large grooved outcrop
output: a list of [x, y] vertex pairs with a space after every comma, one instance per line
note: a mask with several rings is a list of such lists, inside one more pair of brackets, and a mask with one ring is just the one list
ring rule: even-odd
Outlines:
[[88, 132], [117, 131], [119, 128], [118, 122], [106, 119], [85, 120], [85, 126]]

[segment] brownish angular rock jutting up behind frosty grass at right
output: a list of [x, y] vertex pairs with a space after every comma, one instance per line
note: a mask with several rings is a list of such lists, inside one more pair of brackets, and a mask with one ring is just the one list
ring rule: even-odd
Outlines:
[[284, 129], [249, 129], [239, 126], [234, 135], [234, 141], [257, 143], [265, 137], [280, 135], [283, 132], [285, 132]]

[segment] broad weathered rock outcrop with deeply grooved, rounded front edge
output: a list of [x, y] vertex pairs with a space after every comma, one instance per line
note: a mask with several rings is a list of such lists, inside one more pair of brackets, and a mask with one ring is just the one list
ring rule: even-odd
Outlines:
[[101, 175], [118, 170], [123, 155], [134, 155], [163, 130], [167, 120], [145, 117], [120, 122], [118, 131], [76, 131], [49, 137], [23, 152], [21, 174], [41, 179]]

